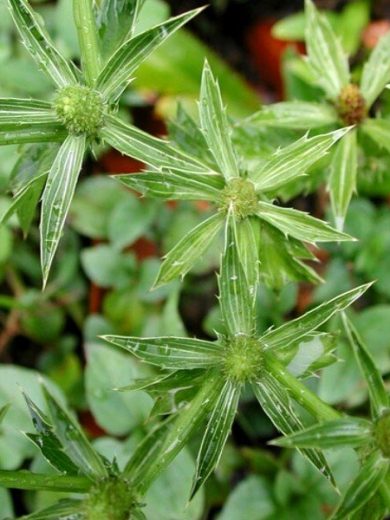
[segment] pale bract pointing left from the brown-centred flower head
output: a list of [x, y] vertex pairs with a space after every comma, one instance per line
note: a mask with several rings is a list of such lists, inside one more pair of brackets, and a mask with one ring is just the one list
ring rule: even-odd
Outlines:
[[335, 109], [325, 103], [282, 101], [264, 106], [244, 124], [308, 130], [334, 124], [337, 119]]

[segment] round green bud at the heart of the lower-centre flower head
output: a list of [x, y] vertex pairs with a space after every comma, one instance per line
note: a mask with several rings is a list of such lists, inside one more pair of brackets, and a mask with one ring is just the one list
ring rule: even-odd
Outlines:
[[225, 340], [223, 370], [229, 379], [245, 383], [260, 377], [263, 369], [262, 343], [240, 334]]

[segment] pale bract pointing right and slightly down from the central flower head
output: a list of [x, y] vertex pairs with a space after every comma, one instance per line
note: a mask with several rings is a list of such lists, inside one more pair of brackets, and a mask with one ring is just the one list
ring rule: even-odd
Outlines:
[[341, 242], [354, 240], [337, 231], [323, 220], [293, 208], [282, 208], [268, 202], [259, 202], [257, 215], [287, 236], [304, 242]]

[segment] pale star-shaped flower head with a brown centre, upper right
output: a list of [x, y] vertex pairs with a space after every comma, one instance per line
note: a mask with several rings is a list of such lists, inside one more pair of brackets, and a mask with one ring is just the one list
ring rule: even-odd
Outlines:
[[326, 102], [286, 101], [268, 105], [247, 123], [309, 130], [353, 125], [332, 155], [328, 189], [336, 227], [343, 229], [356, 191], [358, 143], [361, 133], [390, 150], [390, 123], [374, 117], [373, 105], [390, 81], [390, 34], [381, 38], [364, 64], [359, 84], [351, 80], [348, 58], [328, 20], [306, 0], [306, 48], [313, 82], [325, 92]]

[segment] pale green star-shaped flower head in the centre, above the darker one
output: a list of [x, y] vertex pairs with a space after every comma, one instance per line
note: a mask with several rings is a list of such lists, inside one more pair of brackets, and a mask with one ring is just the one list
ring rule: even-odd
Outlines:
[[261, 168], [243, 170], [218, 83], [207, 62], [202, 76], [199, 119], [200, 128], [182, 111], [175, 140], [182, 153], [196, 157], [201, 170], [195, 170], [188, 162], [185, 167], [115, 176], [148, 197], [204, 200], [215, 207], [213, 216], [190, 231], [168, 253], [155, 286], [183, 277], [223, 229], [228, 214], [237, 226], [238, 247], [251, 290], [255, 290], [259, 278], [259, 264], [260, 274], [270, 286], [279, 288], [286, 279], [320, 280], [302, 262], [315, 258], [304, 242], [343, 241], [351, 237], [302, 211], [274, 204], [272, 194], [304, 175], [336, 141], [345, 137], [348, 128], [303, 137], [277, 151]]

